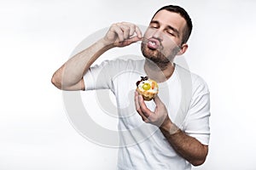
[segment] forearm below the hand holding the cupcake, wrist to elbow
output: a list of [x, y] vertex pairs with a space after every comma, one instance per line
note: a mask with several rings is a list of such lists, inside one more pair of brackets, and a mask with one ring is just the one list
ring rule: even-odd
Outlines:
[[[175, 125], [169, 122], [164, 127], [160, 127], [160, 131], [172, 145], [172, 148], [194, 166], [201, 165], [207, 157], [207, 145], [201, 144], [197, 139], [190, 137], [177, 127], [173, 128], [172, 126]], [[174, 132], [172, 132], [173, 130]]]

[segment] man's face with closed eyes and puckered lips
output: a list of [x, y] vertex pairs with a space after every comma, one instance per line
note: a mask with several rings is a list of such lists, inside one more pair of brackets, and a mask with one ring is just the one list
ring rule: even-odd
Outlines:
[[182, 44], [185, 26], [186, 20], [180, 14], [160, 10], [144, 34], [143, 55], [156, 64], [172, 62], [178, 53], [183, 54], [187, 48], [186, 44]]

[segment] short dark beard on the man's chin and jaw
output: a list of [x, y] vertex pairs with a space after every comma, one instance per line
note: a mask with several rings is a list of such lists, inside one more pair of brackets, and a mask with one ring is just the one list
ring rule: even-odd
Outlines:
[[174, 56], [177, 54], [175, 53], [173, 57], [172, 56], [167, 57], [166, 55], [161, 53], [159, 49], [155, 49], [155, 50], [149, 49], [147, 47], [147, 44], [143, 42], [141, 45], [141, 50], [142, 50], [143, 56], [146, 59], [150, 59], [150, 61], [152, 61], [155, 65], [157, 65], [161, 71], [166, 70], [167, 65], [170, 65], [170, 63], [172, 63]]

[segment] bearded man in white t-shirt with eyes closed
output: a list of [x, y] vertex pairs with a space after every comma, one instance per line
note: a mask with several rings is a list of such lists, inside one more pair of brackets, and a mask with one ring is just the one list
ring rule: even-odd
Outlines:
[[[206, 160], [210, 135], [207, 84], [173, 62], [186, 52], [191, 30], [192, 22], [183, 8], [165, 6], [154, 14], [144, 35], [134, 24], [113, 24], [105, 37], [55, 71], [52, 82], [57, 88], [108, 88], [115, 94], [119, 130], [129, 132], [120, 134], [119, 169], [191, 169], [191, 164], [199, 166]], [[90, 66], [108, 49], [138, 41], [142, 41], [145, 59], [115, 59]], [[154, 101], [145, 102], [135, 90], [137, 80], [145, 75], [160, 85]], [[188, 77], [190, 83], [182, 86]], [[127, 109], [131, 91], [137, 114]], [[185, 105], [183, 96], [189, 101]]]

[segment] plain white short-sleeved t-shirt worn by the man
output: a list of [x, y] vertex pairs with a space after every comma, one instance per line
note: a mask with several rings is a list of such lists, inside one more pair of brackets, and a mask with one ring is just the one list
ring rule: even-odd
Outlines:
[[[187, 82], [179, 72], [189, 75]], [[160, 129], [143, 122], [135, 109], [136, 82], [145, 76], [144, 59], [103, 61], [101, 65], [90, 67], [84, 75], [85, 90], [110, 89], [116, 96], [120, 140], [118, 169], [191, 169], [191, 164], [177, 155]], [[176, 65], [172, 77], [159, 83], [159, 88], [158, 95], [172, 122], [183, 132], [208, 145], [210, 97], [206, 82]], [[183, 99], [183, 96], [189, 97]], [[154, 111], [153, 100], [146, 101], [146, 105]]]

